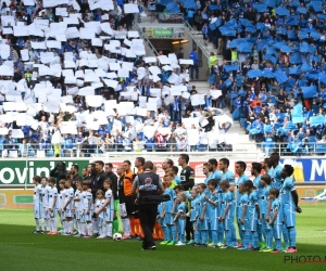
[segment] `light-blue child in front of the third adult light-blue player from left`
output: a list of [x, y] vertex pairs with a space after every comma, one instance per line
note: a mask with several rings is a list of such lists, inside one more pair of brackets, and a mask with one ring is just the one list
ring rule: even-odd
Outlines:
[[248, 194], [243, 183], [239, 184], [238, 191], [239, 195], [241, 195], [237, 205], [237, 222], [239, 228], [239, 235], [241, 238], [241, 243], [238, 245], [238, 249], [249, 249], [250, 227], [247, 219]]

